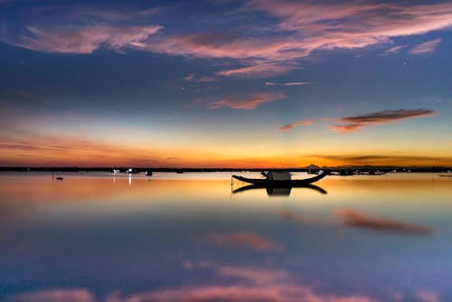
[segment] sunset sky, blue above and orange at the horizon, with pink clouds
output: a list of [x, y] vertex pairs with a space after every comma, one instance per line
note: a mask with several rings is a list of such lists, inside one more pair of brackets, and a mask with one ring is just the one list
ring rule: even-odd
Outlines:
[[0, 165], [452, 165], [450, 1], [0, 0]]

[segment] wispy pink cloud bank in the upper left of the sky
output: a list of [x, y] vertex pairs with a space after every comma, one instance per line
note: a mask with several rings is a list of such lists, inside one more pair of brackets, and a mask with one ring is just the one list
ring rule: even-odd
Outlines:
[[41, 28], [28, 26], [16, 46], [40, 52], [91, 53], [101, 46], [116, 52], [127, 47], [141, 48], [149, 36], [162, 29], [159, 25], [116, 26], [85, 25]]

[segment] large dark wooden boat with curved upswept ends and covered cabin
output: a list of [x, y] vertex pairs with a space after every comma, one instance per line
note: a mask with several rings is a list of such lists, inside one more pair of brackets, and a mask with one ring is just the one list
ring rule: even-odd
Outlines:
[[318, 175], [306, 178], [306, 179], [290, 179], [290, 174], [285, 171], [281, 172], [268, 172], [266, 175], [267, 178], [248, 178], [243, 177], [239, 175], [232, 175], [232, 178], [240, 180], [240, 182], [249, 183], [249, 184], [256, 184], [259, 186], [264, 187], [278, 187], [278, 188], [284, 188], [284, 187], [294, 187], [298, 185], [306, 185], [306, 184], [312, 184], [316, 181], [321, 180], [329, 173], [326, 171], [320, 171]]

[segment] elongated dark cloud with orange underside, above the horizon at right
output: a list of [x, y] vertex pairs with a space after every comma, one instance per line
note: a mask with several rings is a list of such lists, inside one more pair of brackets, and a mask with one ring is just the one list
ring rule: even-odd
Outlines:
[[330, 130], [347, 133], [356, 131], [362, 127], [387, 124], [400, 119], [425, 118], [433, 115], [436, 115], [436, 113], [430, 109], [384, 110], [364, 114], [362, 116], [339, 118], [339, 122], [346, 124], [335, 125], [334, 127], [331, 127]]

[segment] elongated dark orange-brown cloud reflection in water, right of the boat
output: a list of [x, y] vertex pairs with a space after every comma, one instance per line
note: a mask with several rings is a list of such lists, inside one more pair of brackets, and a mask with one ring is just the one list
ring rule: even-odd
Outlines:
[[427, 226], [372, 217], [363, 214], [363, 212], [348, 209], [335, 212], [335, 217], [344, 226], [365, 228], [375, 231], [390, 231], [409, 235], [431, 235], [435, 231], [433, 228]]

